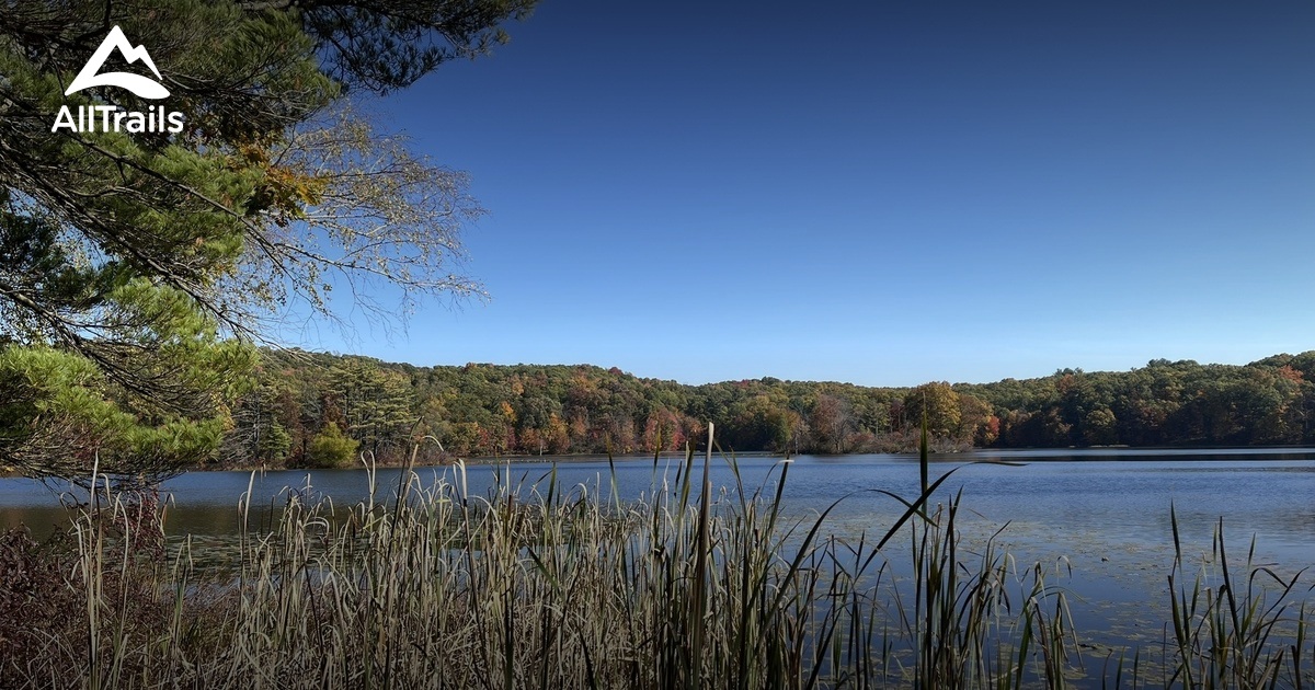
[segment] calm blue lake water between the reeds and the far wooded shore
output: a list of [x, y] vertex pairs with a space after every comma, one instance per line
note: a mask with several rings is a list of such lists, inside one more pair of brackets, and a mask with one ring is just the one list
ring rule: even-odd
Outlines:
[[[1056, 573], [1051, 581], [1068, 591], [1076, 623], [1097, 651], [1102, 644], [1159, 645], [1169, 618], [1170, 503], [1177, 510], [1184, 549], [1198, 560], [1210, 553], [1223, 518], [1230, 561], [1244, 559], [1255, 538], [1257, 563], [1281, 574], [1315, 565], [1312, 448], [976, 451], [932, 460], [932, 478], [955, 469], [938, 499], [963, 489], [960, 526], [967, 545], [984, 544], [1003, 527], [997, 540], [1009, 548], [1020, 572], [1041, 563]], [[974, 464], [981, 461], [1011, 465]], [[698, 459], [696, 468], [701, 463]], [[638, 498], [651, 493], [655, 481], [660, 486], [664, 476], [673, 484], [681, 464], [676, 457], [664, 457], [656, 468], [651, 457], [618, 460], [617, 493]], [[747, 488], [776, 490], [780, 459], [748, 456], [738, 464]], [[484, 494], [509, 480], [531, 485], [543, 481], [554, 465], [560, 484], [584, 484], [590, 492], [601, 488], [610, 494], [608, 463], [579, 457], [471, 465], [468, 490]], [[418, 474], [425, 482], [439, 477], [454, 481], [452, 468], [422, 468]], [[396, 469], [379, 471], [381, 499], [396, 490], [398, 476]], [[714, 459], [711, 477], [714, 486], [732, 490], [734, 474], [726, 460]], [[289, 488], [305, 492], [310, 486], [312, 495], [331, 497], [338, 505], [368, 495], [364, 471], [266, 472], [254, 478], [246, 472], [191, 473], [164, 485], [171, 497], [168, 532], [203, 540], [233, 535], [238, 498], [249, 482], [252, 503], [266, 506], [266, 511], [284, 503]], [[789, 514], [803, 518], [843, 498], [827, 520], [828, 532], [880, 535], [902, 506], [874, 490], [913, 497], [917, 488], [917, 456], [800, 456], [790, 464], [784, 501]], [[51, 489], [30, 480], [0, 480], [0, 527], [22, 522], [39, 535], [66, 520]], [[906, 560], [906, 548], [896, 547], [888, 557]], [[1306, 593], [1308, 586], [1304, 582], [1299, 589]]]

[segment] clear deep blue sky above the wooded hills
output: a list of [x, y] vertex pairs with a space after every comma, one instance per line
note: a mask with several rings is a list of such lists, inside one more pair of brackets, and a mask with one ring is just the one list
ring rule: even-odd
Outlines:
[[544, 0], [375, 105], [490, 301], [308, 347], [706, 382], [1315, 348], [1315, 3]]

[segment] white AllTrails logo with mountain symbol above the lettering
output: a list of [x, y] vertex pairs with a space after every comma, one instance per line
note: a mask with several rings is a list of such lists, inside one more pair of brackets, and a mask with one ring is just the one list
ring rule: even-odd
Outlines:
[[[150, 53], [146, 53], [146, 46], [134, 47], [128, 41], [128, 37], [124, 35], [124, 30], [114, 26], [110, 29], [109, 35], [101, 41], [100, 47], [96, 49], [91, 59], [87, 60], [87, 64], [78, 72], [78, 76], [74, 78], [74, 83], [68, 84], [64, 96], [91, 87], [125, 88], [142, 99], [150, 100], [159, 100], [168, 96], [168, 89], [159, 81], [142, 75], [132, 72], [97, 74], [114, 49], [118, 49], [118, 53], [129, 64], [142, 60], [151, 68], [156, 79], [163, 79], [160, 71], [155, 68], [155, 62], [151, 60]], [[97, 125], [100, 126], [97, 127]], [[78, 116], [74, 117], [74, 110], [64, 105], [59, 108], [59, 114], [55, 116], [55, 125], [50, 127], [50, 131], [59, 131], [62, 127], [80, 133], [153, 131], [178, 134], [183, 131], [183, 113], [171, 113], [163, 105], [151, 105], [145, 113], [124, 110], [117, 105], [79, 105]]]

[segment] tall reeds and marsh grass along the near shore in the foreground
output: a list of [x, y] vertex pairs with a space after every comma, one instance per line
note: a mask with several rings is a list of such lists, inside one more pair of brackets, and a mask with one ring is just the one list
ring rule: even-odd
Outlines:
[[[37, 573], [4, 612], [42, 616], [0, 626], [0, 686], [1014, 689], [1084, 672], [1053, 573], [1019, 569], [994, 536], [967, 544], [963, 497], [938, 493], [949, 474], [931, 481], [926, 451], [919, 495], [872, 490], [902, 513], [851, 538], [827, 530], [844, 498], [786, 514], [788, 463], [753, 488], [723, 457], [734, 486], [714, 489], [713, 453], [688, 451], [675, 476], [655, 459], [638, 501], [614, 477], [531, 482], [510, 467], [471, 494], [462, 464], [431, 485], [408, 468], [381, 492], [371, 468], [368, 499], [308, 486], [255, 526], [249, 488], [222, 568], [199, 566], [208, 547], [191, 540], [162, 548], [150, 495], [101, 497], [63, 547], [0, 543]], [[1222, 535], [1218, 552], [1226, 564]], [[1176, 599], [1166, 685], [1308, 683], [1304, 609], [1223, 578]], [[1295, 580], [1278, 582], [1285, 601]], [[1139, 656], [1120, 660], [1114, 686], [1141, 676]]]

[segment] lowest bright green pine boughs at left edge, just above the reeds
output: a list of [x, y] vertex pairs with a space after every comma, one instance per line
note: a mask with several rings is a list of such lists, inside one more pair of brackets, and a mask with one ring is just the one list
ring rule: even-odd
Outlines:
[[[245, 389], [231, 372], [247, 368], [254, 351], [217, 340], [204, 319], [178, 309], [163, 290], [130, 283], [116, 293], [134, 290], [137, 313], [171, 335], [153, 343], [151, 360], [100, 348], [0, 348], [0, 456], [8, 463], [34, 476], [75, 478], [99, 465], [133, 481], [214, 451], [227, 423], [222, 400]], [[155, 394], [133, 396], [122, 385], [128, 376]]]

